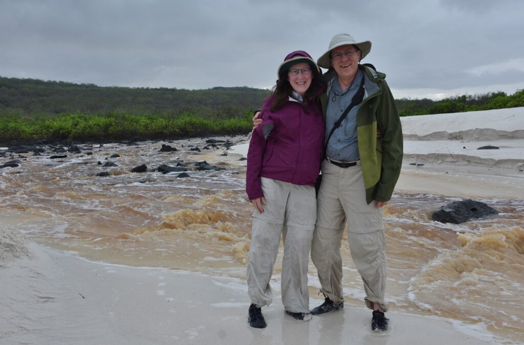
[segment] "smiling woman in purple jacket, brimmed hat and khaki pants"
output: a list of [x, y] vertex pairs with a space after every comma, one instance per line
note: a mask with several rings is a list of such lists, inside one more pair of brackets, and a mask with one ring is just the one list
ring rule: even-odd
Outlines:
[[287, 55], [277, 85], [260, 113], [247, 153], [246, 192], [254, 206], [247, 263], [249, 325], [266, 327], [260, 308], [272, 302], [271, 279], [283, 237], [282, 303], [286, 313], [310, 320], [308, 262], [316, 220], [324, 90], [318, 66], [304, 51]]

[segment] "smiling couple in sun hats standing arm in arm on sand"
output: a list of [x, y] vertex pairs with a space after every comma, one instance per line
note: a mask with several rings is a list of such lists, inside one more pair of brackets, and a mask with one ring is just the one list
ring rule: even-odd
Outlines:
[[[344, 307], [340, 247], [346, 222], [364, 301], [373, 310], [372, 329], [388, 327], [381, 207], [400, 174], [402, 131], [385, 74], [360, 64], [370, 50], [370, 41], [339, 34], [318, 64], [304, 51], [290, 53], [278, 68], [261, 120], [254, 119], [246, 174], [254, 206], [247, 263], [252, 327], [266, 327], [260, 308], [272, 302], [269, 281], [281, 235], [286, 313], [307, 321]], [[328, 71], [322, 75], [319, 66]], [[325, 296], [312, 310], [310, 253]]]

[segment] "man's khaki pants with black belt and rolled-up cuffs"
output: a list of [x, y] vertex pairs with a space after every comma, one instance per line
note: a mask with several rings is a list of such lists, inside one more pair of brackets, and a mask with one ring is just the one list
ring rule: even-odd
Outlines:
[[366, 204], [361, 166], [340, 168], [322, 163], [311, 260], [316, 267], [321, 292], [335, 304], [344, 301], [340, 247], [347, 221], [351, 257], [364, 282], [368, 308], [380, 304], [384, 311], [386, 291], [386, 241], [380, 209]]

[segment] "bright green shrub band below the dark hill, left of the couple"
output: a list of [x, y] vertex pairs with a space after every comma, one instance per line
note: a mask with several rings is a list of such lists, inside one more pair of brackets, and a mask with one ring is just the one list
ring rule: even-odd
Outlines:
[[112, 113], [86, 115], [62, 113], [54, 116], [0, 116], [0, 142], [25, 139], [54, 141], [107, 141], [133, 138], [167, 139], [248, 133], [253, 112], [236, 118], [203, 118], [190, 113], [179, 116]]

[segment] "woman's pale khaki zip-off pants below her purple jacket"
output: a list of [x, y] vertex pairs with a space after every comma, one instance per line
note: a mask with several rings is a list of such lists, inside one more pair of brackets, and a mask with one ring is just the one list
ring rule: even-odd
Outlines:
[[253, 212], [247, 293], [257, 307], [271, 304], [269, 281], [282, 234], [282, 304], [293, 313], [309, 313], [308, 263], [316, 219], [315, 188], [265, 177], [261, 180], [267, 204], [263, 205], [264, 213]]

